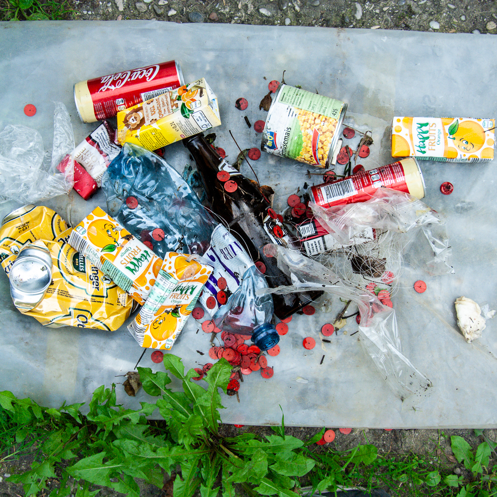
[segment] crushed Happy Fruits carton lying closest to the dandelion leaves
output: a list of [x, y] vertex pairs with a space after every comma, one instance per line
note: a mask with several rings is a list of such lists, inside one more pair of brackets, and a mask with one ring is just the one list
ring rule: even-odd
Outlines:
[[142, 347], [171, 349], [212, 271], [196, 255], [167, 253], [147, 302], [128, 326]]

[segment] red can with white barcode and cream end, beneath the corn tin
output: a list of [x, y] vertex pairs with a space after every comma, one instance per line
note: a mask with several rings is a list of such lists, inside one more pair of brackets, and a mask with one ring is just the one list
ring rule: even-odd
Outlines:
[[332, 183], [312, 186], [311, 200], [322, 207], [365, 202], [382, 186], [404, 191], [419, 199], [425, 193], [421, 169], [416, 160], [411, 158], [361, 171]]

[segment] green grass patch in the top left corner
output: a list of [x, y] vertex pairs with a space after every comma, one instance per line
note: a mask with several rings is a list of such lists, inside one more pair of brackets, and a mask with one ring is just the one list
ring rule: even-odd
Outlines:
[[73, 19], [73, 0], [0, 0], [0, 21]]

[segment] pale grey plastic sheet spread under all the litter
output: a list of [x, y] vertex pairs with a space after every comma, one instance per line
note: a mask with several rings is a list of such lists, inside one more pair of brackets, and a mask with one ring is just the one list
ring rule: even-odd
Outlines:
[[[123, 69], [178, 59], [185, 81], [205, 77], [220, 102], [223, 125], [214, 131], [217, 144], [234, 161], [238, 150], [258, 146], [260, 135], [248, 129], [243, 116], [264, 119], [258, 102], [270, 80], [286, 70], [289, 84], [348, 102], [346, 122], [373, 130], [375, 143], [367, 168], [393, 162], [388, 126], [394, 115], [495, 117], [497, 38], [492, 35], [435, 34], [409, 31], [269, 27], [218, 24], [176, 24], [156, 21], [11, 22], [0, 23], [0, 123], [38, 129], [51, 147], [53, 101], [63, 101], [79, 143], [94, 124], [82, 124], [73, 100], [73, 84]], [[267, 78], [267, 81], [264, 80]], [[235, 100], [249, 107], [240, 112]], [[26, 103], [36, 105], [26, 117]], [[182, 170], [188, 161], [181, 144], [166, 150], [166, 160]], [[271, 184], [275, 207], [305, 181], [307, 166], [263, 153], [254, 163], [261, 183]], [[248, 167], [243, 166], [243, 171]], [[457, 331], [454, 300], [465, 295], [497, 308], [497, 208], [495, 162], [480, 165], [421, 164], [425, 201], [448, 216], [455, 274], [424, 277], [412, 267], [394, 297], [404, 354], [434, 385], [431, 397], [412, 409], [379, 377], [359, 343], [355, 321], [321, 344], [318, 332], [332, 314], [297, 316], [282, 337], [281, 353], [270, 358], [275, 374], [246, 378], [236, 397], [224, 398], [225, 422], [350, 427], [496, 427], [497, 323], [489, 321], [477, 345], [468, 345]], [[318, 178], [319, 176], [313, 176]], [[450, 196], [440, 194], [443, 181], [454, 184]], [[18, 204], [0, 205], [3, 217]], [[76, 224], [95, 205], [105, 207], [99, 192], [84, 202], [74, 192], [46, 202]], [[423, 276], [428, 290], [416, 294], [413, 282]], [[0, 390], [29, 396], [45, 406], [64, 400], [88, 402], [101, 384], [132, 370], [142, 349], [122, 327], [116, 332], [76, 328], [44, 329], [13, 307], [7, 278], [0, 274]], [[210, 335], [197, 331], [191, 319], [172, 352], [187, 367], [210, 361]], [[343, 331], [343, 330], [342, 330]], [[305, 336], [318, 345], [306, 351]], [[487, 347], [487, 349], [485, 348]], [[323, 364], [320, 365], [322, 356]], [[161, 369], [146, 353], [142, 366]], [[118, 402], [138, 407], [148, 400], [141, 392], [129, 398], [117, 387]]]

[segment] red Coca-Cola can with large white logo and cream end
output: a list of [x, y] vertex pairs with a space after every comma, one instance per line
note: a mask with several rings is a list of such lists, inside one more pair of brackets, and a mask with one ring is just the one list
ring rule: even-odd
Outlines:
[[74, 101], [83, 123], [91, 123], [183, 84], [179, 62], [169, 61], [76, 83]]

